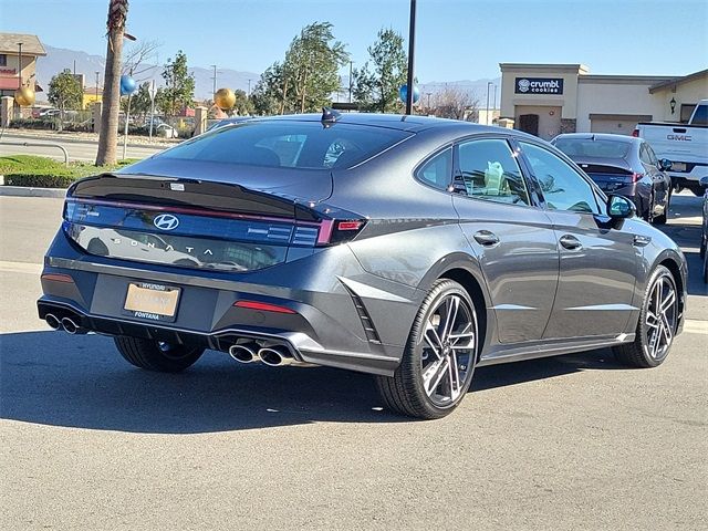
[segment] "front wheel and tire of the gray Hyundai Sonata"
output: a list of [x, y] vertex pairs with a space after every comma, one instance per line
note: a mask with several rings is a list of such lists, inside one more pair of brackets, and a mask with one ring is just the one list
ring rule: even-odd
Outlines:
[[[660, 293], [658, 293], [659, 302], [657, 303], [658, 291]], [[670, 308], [667, 308], [666, 313], [657, 312], [657, 309], [665, 305], [664, 296], [666, 301], [671, 300], [670, 291], [674, 293]], [[649, 277], [644, 292], [634, 341], [613, 347], [615, 357], [620, 362], [639, 368], [657, 367], [664, 363], [670, 351], [678, 323], [678, 298], [679, 292], [674, 275], [664, 266], [658, 266]], [[666, 342], [665, 346], [662, 346], [663, 341]]]

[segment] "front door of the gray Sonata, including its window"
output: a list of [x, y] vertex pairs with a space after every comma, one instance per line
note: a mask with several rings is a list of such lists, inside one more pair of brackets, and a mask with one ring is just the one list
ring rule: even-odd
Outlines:
[[[617, 335], [633, 306], [642, 250], [612, 227], [590, 179], [543, 146], [520, 142], [541, 188], [560, 256], [558, 292], [544, 339]], [[637, 240], [637, 244], [642, 241]]]

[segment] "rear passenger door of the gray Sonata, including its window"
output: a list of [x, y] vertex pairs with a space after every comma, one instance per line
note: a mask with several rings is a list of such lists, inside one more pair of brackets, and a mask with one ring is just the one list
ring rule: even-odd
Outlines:
[[500, 343], [540, 340], [558, 284], [553, 227], [502, 137], [455, 147], [452, 205], [491, 295]]

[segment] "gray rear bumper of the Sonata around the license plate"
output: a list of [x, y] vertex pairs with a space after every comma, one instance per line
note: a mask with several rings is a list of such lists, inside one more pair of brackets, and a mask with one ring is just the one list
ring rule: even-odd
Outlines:
[[[311, 263], [209, 275], [92, 257], [75, 249], [60, 230], [45, 258], [44, 294], [38, 310], [43, 320], [49, 314], [70, 317], [82, 332], [223, 352], [237, 342], [256, 340], [284, 345], [298, 361], [392, 375], [423, 293], [365, 272], [347, 246], [303, 261]], [[311, 274], [303, 274], [305, 270]], [[124, 303], [132, 282], [179, 288], [174, 322], [126, 315]], [[235, 306], [242, 300], [274, 304], [292, 313]]]

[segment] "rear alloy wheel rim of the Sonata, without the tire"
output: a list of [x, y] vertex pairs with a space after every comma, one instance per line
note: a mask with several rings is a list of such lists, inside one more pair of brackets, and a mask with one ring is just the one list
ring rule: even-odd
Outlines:
[[433, 404], [455, 404], [475, 367], [477, 319], [457, 294], [448, 294], [428, 313], [418, 340], [423, 387]]

